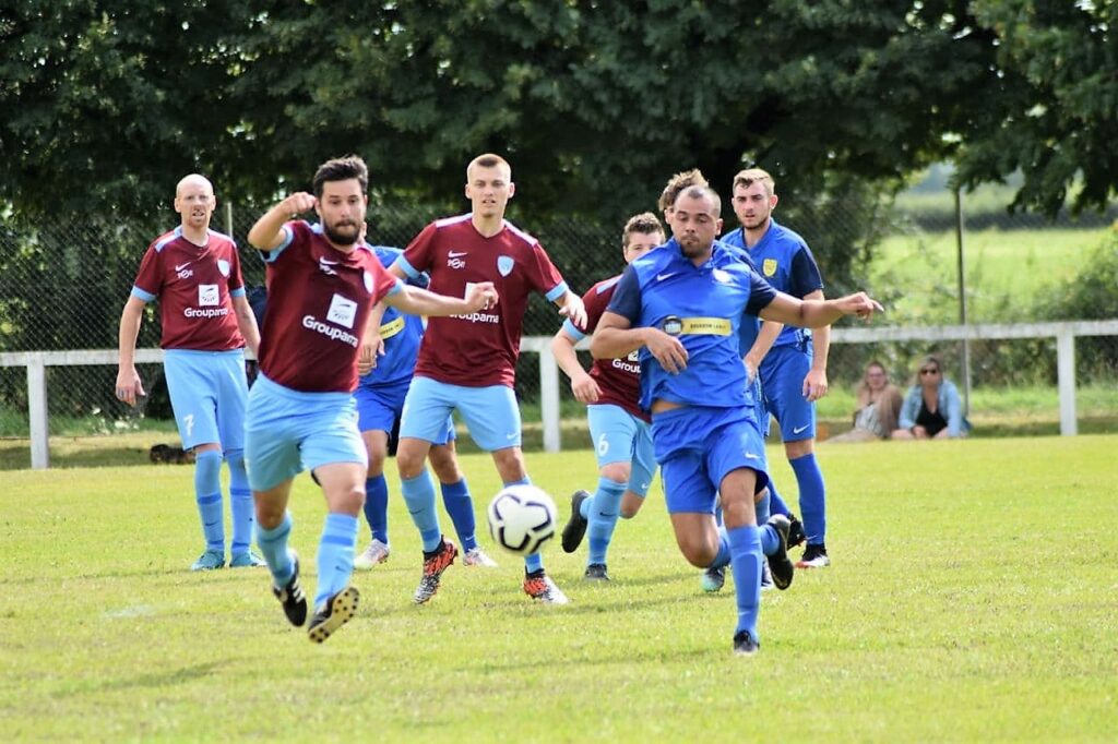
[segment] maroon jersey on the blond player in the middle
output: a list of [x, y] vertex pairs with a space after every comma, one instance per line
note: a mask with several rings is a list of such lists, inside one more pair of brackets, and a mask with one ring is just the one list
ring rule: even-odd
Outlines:
[[567, 292], [536, 238], [508, 221], [486, 238], [470, 214], [428, 225], [398, 264], [413, 278], [426, 271], [427, 288], [440, 295], [465, 297], [467, 287], [480, 282], [496, 286], [496, 307], [427, 321], [415, 373], [455, 385], [511, 388], [528, 296], [539, 292], [553, 301]]

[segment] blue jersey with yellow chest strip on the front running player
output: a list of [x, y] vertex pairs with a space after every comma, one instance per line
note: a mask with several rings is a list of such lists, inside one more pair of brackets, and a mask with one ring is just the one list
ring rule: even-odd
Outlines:
[[742, 315], [757, 315], [776, 290], [731, 249], [714, 244], [695, 266], [675, 238], [629, 264], [607, 308], [633, 327], [679, 336], [688, 365], [672, 374], [641, 350], [641, 407], [654, 400], [731, 408], [752, 404], [738, 333]]

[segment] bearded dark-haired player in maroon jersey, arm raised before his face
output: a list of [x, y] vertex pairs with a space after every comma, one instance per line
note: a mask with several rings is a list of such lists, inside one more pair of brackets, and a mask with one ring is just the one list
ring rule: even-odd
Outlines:
[[[388, 274], [361, 240], [368, 188], [369, 172], [360, 158], [328, 161], [314, 174], [313, 195], [291, 194], [248, 232], [268, 265], [260, 372], [245, 426], [256, 542], [272, 571], [273, 593], [291, 623], [302, 626], [306, 599], [299, 557], [287, 547], [287, 500], [295, 475], [310, 468], [328, 511], [319, 542], [315, 613], [307, 628], [311, 640], [320, 643], [357, 611], [358, 591], [349, 581], [368, 455], [351, 393], [372, 306], [382, 299], [406, 313], [434, 317], [492, 312], [498, 299], [490, 283], [444, 297]], [[311, 209], [321, 223], [292, 219]]]

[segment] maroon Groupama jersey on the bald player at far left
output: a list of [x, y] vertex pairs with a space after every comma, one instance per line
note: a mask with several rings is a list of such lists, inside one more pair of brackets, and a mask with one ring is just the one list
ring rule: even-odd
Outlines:
[[178, 227], [155, 239], [140, 261], [132, 287], [135, 297], [159, 298], [163, 349], [228, 351], [241, 349], [230, 297], [245, 294], [237, 244], [210, 230], [206, 245], [196, 246]]

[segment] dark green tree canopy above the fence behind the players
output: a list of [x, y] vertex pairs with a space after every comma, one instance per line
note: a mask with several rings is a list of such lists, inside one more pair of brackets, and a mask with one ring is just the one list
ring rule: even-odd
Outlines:
[[1114, 194], [1118, 3], [1045, 0], [25, 0], [0, 11], [0, 199], [145, 212], [182, 173], [267, 200], [357, 152], [375, 188], [461, 195], [509, 156], [518, 202], [645, 208], [698, 165], [793, 192], [1021, 170], [1017, 204]]

